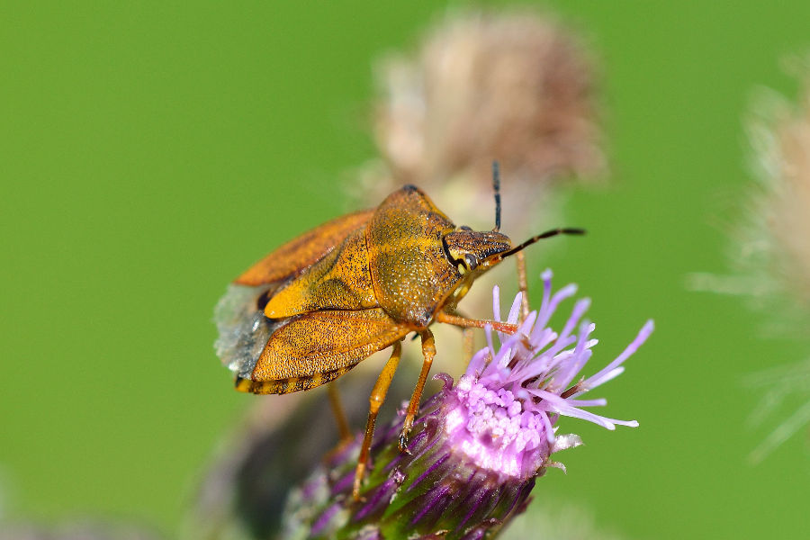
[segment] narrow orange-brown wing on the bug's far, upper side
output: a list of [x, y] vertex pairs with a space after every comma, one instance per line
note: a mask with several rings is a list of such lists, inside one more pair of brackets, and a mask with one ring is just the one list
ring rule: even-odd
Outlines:
[[284, 246], [263, 258], [247, 272], [240, 275], [235, 284], [257, 286], [280, 282], [299, 275], [339, 246], [353, 230], [365, 227], [374, 210], [357, 211], [328, 221], [320, 227], [293, 238]]

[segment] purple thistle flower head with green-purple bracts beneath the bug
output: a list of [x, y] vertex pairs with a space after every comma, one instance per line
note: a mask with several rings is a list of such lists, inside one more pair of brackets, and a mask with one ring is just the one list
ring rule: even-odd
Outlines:
[[[492, 537], [526, 508], [537, 477], [548, 467], [564, 470], [551, 456], [581, 444], [576, 435], [557, 433], [563, 416], [608, 429], [638, 425], [590, 412], [605, 401], [580, 397], [624, 371], [622, 364], [653, 331], [652, 321], [613, 362], [577, 379], [597, 343], [590, 338], [594, 325], [581, 322], [590, 302], [576, 302], [555, 332], [549, 320], [576, 289], [569, 285], [552, 295], [551, 272], [543, 277], [540, 310], [515, 335], [499, 334], [496, 350], [488, 331], [488, 347], [473, 356], [458, 382], [437, 375], [444, 388], [420, 410], [409, 453], [397, 445], [401, 419], [380, 430], [360, 501], [350, 495], [359, 439], [331, 455], [325, 468], [293, 491], [285, 537]], [[500, 320], [497, 289], [494, 304]], [[509, 322], [518, 322], [519, 307], [518, 295]]]

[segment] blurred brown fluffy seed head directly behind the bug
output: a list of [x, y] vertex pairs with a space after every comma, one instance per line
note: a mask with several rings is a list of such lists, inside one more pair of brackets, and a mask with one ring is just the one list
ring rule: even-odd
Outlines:
[[448, 17], [413, 57], [378, 70], [375, 135], [390, 172], [367, 169], [364, 189], [379, 190], [376, 200], [395, 184], [423, 185], [448, 215], [491, 227], [470, 209], [491, 206], [493, 159], [515, 216], [542, 202], [549, 180], [599, 174], [591, 64], [579, 40], [530, 11]]

